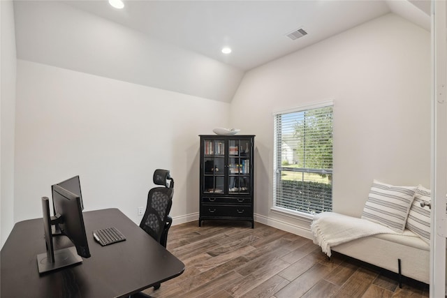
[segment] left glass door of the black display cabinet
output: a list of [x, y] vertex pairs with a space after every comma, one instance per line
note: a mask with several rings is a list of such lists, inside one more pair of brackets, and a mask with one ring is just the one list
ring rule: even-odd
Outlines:
[[223, 193], [225, 184], [225, 141], [204, 140], [203, 192]]

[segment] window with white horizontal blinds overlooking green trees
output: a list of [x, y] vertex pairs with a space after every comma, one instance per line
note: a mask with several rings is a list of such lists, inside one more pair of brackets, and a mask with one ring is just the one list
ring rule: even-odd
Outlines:
[[332, 106], [274, 113], [274, 207], [332, 211]]

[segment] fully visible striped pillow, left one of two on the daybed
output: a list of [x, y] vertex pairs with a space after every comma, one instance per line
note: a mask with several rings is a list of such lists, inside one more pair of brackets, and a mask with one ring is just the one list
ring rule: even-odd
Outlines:
[[362, 218], [404, 232], [415, 191], [414, 186], [393, 186], [374, 180]]

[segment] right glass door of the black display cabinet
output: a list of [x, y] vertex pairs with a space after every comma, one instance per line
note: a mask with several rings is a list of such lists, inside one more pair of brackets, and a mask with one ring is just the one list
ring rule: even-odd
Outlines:
[[251, 193], [250, 140], [228, 141], [228, 193]]

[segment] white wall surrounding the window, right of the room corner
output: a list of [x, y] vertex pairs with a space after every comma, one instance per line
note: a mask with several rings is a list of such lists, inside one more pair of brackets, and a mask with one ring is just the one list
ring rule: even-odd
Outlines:
[[230, 123], [256, 135], [258, 220], [309, 236], [308, 221], [270, 211], [272, 111], [328, 98], [334, 211], [360, 216], [373, 179], [430, 186], [430, 33], [388, 14], [244, 76]]

